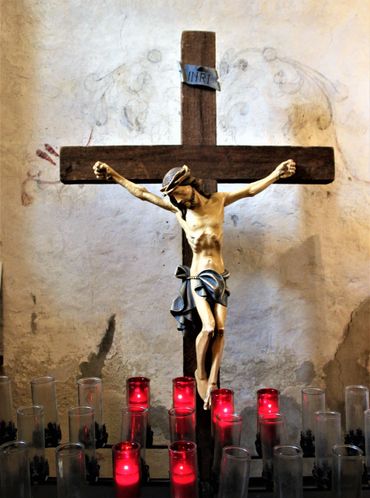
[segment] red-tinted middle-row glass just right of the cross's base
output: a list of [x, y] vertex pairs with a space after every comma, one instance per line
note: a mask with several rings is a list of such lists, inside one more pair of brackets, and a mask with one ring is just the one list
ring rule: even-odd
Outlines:
[[243, 418], [238, 413], [224, 413], [216, 416], [215, 443], [212, 471], [219, 474], [222, 449], [225, 446], [240, 446]]

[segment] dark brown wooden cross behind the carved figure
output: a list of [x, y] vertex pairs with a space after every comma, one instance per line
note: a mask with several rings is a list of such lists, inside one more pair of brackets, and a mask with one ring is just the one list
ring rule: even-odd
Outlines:
[[[183, 64], [215, 68], [215, 33], [186, 31], [182, 34]], [[62, 147], [63, 183], [104, 183], [97, 180], [92, 166], [102, 161], [137, 183], [161, 183], [165, 173], [183, 164], [192, 174], [206, 179], [208, 189], [217, 182], [249, 183], [267, 176], [277, 164], [293, 159], [294, 176], [278, 183], [325, 184], [334, 179], [334, 152], [331, 147], [217, 146], [216, 92], [182, 85], [182, 144], [155, 146]], [[191, 251], [183, 237], [183, 264], [190, 266]], [[210, 348], [209, 348], [210, 349]], [[193, 334], [184, 335], [184, 375], [194, 376], [196, 368]], [[197, 426], [201, 479], [209, 479], [212, 462], [209, 411], [202, 409], [198, 396]]]

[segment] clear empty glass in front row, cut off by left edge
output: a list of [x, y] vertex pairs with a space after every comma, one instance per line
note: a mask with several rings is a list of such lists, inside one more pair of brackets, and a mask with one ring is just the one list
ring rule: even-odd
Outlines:
[[27, 444], [10, 441], [0, 446], [0, 496], [31, 498]]

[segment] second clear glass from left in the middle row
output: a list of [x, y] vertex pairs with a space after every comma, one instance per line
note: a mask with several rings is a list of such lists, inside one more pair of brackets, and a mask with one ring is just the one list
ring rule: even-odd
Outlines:
[[91, 406], [68, 410], [69, 442], [81, 443], [88, 459], [95, 458], [95, 418]]

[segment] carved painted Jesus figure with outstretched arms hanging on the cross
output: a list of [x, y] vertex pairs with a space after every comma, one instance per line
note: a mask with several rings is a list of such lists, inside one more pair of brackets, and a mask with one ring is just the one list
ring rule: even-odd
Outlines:
[[[180, 330], [185, 328], [184, 321], [192, 313], [196, 312], [200, 318], [202, 327], [195, 341], [197, 369], [194, 375], [207, 410], [211, 392], [217, 388], [229, 296], [226, 282], [229, 274], [222, 257], [225, 207], [262, 192], [280, 178], [290, 177], [295, 173], [295, 162], [292, 159], [284, 161], [265, 178], [235, 191], [212, 194], [204, 192], [201, 181], [192, 176], [188, 166], [172, 168], [163, 178], [163, 198], [143, 185], [127, 180], [105, 163], [98, 161], [93, 169], [99, 180], [112, 179], [138, 199], [174, 213], [185, 232], [193, 253], [192, 263], [190, 268], [178, 267], [176, 276], [182, 278], [183, 285], [171, 312], [178, 320]], [[205, 358], [210, 344], [212, 362], [207, 375]]]

